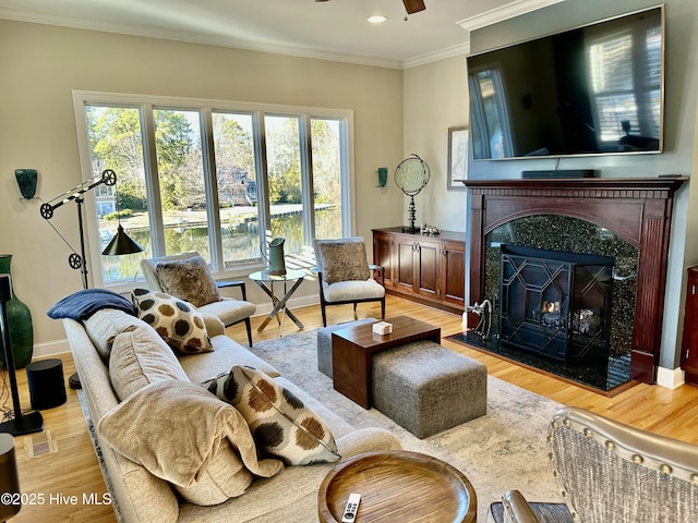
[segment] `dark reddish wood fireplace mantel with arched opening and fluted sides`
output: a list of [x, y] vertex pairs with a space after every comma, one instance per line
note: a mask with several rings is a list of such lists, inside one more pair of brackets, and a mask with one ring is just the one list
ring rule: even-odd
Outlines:
[[[467, 180], [470, 296], [484, 296], [485, 235], [518, 218], [558, 215], [595, 223], [638, 250], [630, 378], [653, 384], [659, 365], [673, 196], [685, 177]], [[469, 318], [477, 323], [477, 318]], [[474, 325], [474, 324], [472, 324]]]

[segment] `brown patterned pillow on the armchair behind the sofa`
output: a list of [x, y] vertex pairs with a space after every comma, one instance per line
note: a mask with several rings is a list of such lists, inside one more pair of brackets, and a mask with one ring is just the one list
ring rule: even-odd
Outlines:
[[155, 272], [165, 292], [195, 307], [221, 300], [216, 280], [208, 270], [206, 260], [201, 256], [159, 262], [155, 266]]

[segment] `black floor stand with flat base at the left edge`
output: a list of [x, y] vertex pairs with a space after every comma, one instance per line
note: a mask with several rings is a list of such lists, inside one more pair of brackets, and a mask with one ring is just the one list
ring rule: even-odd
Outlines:
[[12, 436], [40, 433], [44, 429], [41, 413], [32, 411], [22, 413], [20, 405], [20, 392], [17, 391], [17, 378], [14, 372], [14, 354], [10, 340], [10, 325], [8, 324], [8, 302], [12, 297], [12, 281], [10, 275], [0, 275], [0, 327], [2, 328], [2, 343], [4, 344], [4, 361], [10, 376], [10, 390], [12, 392], [12, 408], [14, 417], [0, 423], [0, 433], [10, 433]]

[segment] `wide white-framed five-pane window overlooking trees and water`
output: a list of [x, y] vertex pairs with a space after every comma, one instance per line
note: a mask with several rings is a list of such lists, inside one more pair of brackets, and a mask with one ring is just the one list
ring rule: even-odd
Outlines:
[[95, 191], [88, 227], [104, 248], [118, 216], [145, 248], [93, 253], [101, 285], [132, 280], [143, 257], [195, 250], [215, 272], [241, 273], [263, 264], [269, 236], [301, 255], [349, 231], [350, 111], [85, 92], [74, 104], [84, 178], [118, 180]]

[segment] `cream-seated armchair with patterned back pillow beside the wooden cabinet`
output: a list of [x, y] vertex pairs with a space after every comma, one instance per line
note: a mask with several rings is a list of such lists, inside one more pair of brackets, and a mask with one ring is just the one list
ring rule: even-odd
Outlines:
[[[325, 307], [330, 305], [381, 302], [381, 318], [385, 319], [385, 273], [377, 265], [369, 265], [362, 236], [340, 240], [315, 240], [315, 262], [320, 284], [320, 308], [327, 326]], [[373, 278], [380, 271], [381, 283]]]

